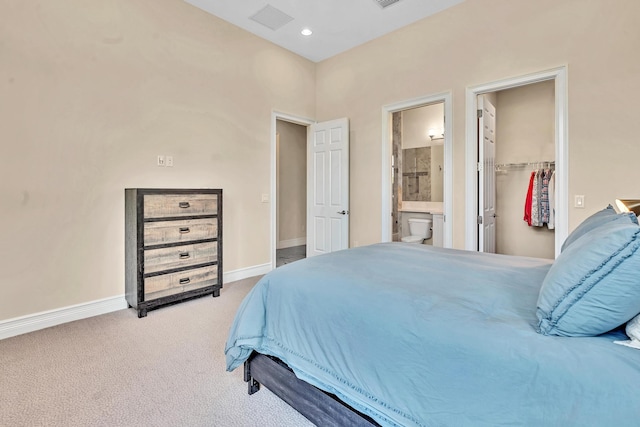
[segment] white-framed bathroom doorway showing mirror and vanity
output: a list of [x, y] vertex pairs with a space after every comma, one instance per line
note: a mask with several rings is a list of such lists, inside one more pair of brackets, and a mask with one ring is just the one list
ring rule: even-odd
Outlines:
[[382, 114], [382, 241], [401, 240], [409, 217], [435, 213], [439, 235], [426, 242], [451, 247], [451, 94], [387, 105]]

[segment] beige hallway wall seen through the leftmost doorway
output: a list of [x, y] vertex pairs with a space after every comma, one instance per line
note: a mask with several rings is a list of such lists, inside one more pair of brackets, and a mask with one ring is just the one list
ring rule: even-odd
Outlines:
[[278, 120], [278, 248], [306, 242], [307, 127]]

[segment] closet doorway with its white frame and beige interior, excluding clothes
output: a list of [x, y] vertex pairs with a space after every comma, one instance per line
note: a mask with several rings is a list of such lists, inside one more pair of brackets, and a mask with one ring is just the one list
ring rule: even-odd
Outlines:
[[[560, 253], [568, 227], [566, 87], [566, 69], [562, 67], [467, 89], [466, 249], [484, 250], [479, 237], [485, 222], [479, 212], [479, 197], [485, 196], [479, 181], [482, 171], [495, 173], [496, 252], [541, 258]], [[478, 145], [480, 96], [495, 103], [497, 111], [496, 160], [490, 170]], [[535, 102], [527, 105], [523, 101], [527, 97]], [[551, 168], [555, 169], [556, 189], [553, 230], [547, 224], [534, 229], [524, 222], [528, 180], [532, 170]]]

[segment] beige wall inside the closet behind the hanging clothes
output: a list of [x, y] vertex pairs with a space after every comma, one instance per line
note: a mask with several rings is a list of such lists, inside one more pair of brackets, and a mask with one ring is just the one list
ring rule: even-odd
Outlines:
[[[496, 92], [496, 163], [555, 160], [553, 81]], [[496, 252], [553, 259], [555, 233], [523, 220], [531, 171], [543, 165], [496, 173]]]

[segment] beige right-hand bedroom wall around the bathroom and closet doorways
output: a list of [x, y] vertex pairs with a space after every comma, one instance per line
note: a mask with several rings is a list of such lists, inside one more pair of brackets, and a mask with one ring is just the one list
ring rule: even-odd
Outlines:
[[637, 195], [637, 180], [620, 173], [635, 170], [640, 157], [637, 16], [636, 0], [466, 0], [319, 63], [316, 118], [350, 119], [351, 242], [380, 238], [381, 106], [452, 92], [449, 219], [454, 247], [463, 248], [465, 89], [562, 65], [568, 66], [569, 197], [586, 197], [585, 209], [570, 203], [570, 230], [617, 195]]

